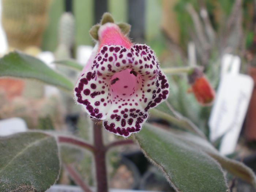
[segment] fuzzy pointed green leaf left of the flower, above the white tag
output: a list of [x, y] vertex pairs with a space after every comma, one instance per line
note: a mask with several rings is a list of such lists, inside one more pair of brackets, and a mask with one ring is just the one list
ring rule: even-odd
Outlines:
[[11, 52], [0, 59], [1, 76], [36, 79], [68, 91], [74, 88], [73, 83], [50, 69], [41, 60], [20, 52]]

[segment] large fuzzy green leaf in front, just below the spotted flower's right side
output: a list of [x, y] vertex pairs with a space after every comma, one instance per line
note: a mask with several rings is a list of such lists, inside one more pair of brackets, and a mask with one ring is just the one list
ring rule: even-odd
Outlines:
[[219, 163], [174, 133], [145, 124], [135, 138], [145, 156], [162, 170], [177, 192], [229, 190]]

